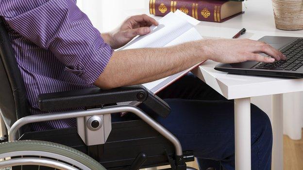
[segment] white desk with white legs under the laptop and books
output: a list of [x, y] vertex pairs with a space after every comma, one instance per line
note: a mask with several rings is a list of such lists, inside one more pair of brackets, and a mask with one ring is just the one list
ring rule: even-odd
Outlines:
[[[242, 28], [241, 38], [258, 40], [265, 35], [302, 37], [303, 31], [275, 29], [269, 0], [247, 1], [246, 13], [224, 23], [201, 22], [198, 31], [204, 37], [231, 38]], [[262, 4], [262, 5], [260, 5]], [[232, 75], [214, 70], [216, 62], [207, 61], [193, 73], [227, 99], [235, 99], [236, 170], [251, 168], [251, 97], [273, 95], [272, 170], [283, 170], [283, 93], [302, 92], [303, 79]]]

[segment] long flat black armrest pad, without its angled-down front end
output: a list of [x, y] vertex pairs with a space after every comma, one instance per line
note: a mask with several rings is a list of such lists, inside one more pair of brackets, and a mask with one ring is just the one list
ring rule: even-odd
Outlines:
[[[137, 98], [137, 94], [144, 94]], [[78, 107], [93, 107], [127, 101], [144, 101], [147, 98], [144, 86], [129, 86], [111, 90], [99, 88], [83, 89], [68, 92], [46, 93], [38, 96], [39, 108], [42, 111]]]

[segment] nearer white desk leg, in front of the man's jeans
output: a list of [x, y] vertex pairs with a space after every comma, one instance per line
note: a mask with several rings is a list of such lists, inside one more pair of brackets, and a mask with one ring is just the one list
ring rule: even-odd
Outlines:
[[236, 170], [251, 170], [251, 98], [235, 99]]

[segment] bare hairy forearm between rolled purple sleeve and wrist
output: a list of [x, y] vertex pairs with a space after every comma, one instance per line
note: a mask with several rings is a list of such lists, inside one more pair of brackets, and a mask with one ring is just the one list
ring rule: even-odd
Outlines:
[[189, 42], [165, 48], [114, 52], [95, 84], [103, 89], [110, 89], [142, 84], [181, 72], [207, 60], [201, 44], [201, 42]]

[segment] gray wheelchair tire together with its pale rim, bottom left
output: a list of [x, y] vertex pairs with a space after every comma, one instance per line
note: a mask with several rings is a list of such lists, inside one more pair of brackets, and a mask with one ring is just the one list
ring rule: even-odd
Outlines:
[[[39, 153], [41, 155], [38, 156], [47, 155], [47, 157], [53, 159], [58, 159], [58, 157], [60, 157], [65, 160], [58, 160], [65, 161], [67, 163], [73, 162], [74, 164], [72, 165], [81, 164], [87, 167], [89, 170], [106, 170], [99, 162], [88, 155], [61, 144], [38, 140], [18, 140], [0, 143], [0, 159], [10, 156], [37, 156]], [[71, 160], [74, 160], [75, 162]]]

